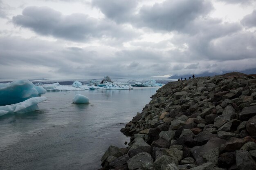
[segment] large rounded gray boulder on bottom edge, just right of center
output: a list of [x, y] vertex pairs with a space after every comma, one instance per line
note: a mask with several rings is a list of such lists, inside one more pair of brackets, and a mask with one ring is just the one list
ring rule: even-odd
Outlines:
[[136, 170], [139, 168], [147, 169], [152, 166], [153, 158], [149, 153], [143, 152], [135, 155], [127, 161], [129, 170]]

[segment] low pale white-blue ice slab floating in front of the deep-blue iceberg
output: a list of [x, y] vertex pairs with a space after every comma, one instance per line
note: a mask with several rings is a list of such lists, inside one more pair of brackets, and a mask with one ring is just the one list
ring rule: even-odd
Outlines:
[[7, 113], [27, 113], [38, 110], [37, 104], [47, 100], [46, 97], [32, 97], [17, 104], [0, 106], [0, 116]]

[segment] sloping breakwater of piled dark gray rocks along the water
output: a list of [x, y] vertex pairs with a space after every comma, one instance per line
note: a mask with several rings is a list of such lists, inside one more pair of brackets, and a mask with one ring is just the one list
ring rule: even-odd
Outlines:
[[121, 129], [101, 170], [256, 170], [256, 78], [229, 73], [170, 82]]

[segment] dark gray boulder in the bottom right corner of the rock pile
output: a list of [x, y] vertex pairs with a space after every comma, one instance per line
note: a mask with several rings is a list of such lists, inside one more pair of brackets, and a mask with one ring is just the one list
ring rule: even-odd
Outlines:
[[256, 170], [256, 162], [247, 150], [236, 151], [236, 165], [239, 170]]

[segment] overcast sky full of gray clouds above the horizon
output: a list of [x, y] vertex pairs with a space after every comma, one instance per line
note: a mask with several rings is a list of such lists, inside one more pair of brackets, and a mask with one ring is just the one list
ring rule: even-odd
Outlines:
[[0, 79], [250, 68], [255, 0], [0, 0]]

